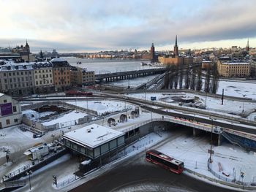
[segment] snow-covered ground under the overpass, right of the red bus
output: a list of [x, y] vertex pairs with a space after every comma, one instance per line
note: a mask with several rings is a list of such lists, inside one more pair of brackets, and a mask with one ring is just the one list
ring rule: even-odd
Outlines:
[[[211, 172], [208, 172], [209, 143], [208, 137], [181, 136], [157, 148], [157, 150], [184, 161], [184, 166], [188, 169], [216, 178]], [[244, 182], [256, 182], [255, 153], [247, 153], [241, 147], [227, 143], [223, 143], [222, 146], [213, 146], [213, 150], [211, 167], [214, 172], [222, 177], [227, 177], [225, 174], [229, 175], [227, 178], [231, 180], [235, 174], [236, 180], [241, 180], [240, 174], [244, 172]], [[219, 166], [222, 166], [222, 171], [219, 171]]]

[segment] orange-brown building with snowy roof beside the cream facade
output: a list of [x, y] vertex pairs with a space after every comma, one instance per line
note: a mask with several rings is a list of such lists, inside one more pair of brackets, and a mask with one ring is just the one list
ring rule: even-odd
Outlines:
[[53, 83], [56, 91], [64, 91], [70, 85], [70, 65], [63, 58], [53, 58]]

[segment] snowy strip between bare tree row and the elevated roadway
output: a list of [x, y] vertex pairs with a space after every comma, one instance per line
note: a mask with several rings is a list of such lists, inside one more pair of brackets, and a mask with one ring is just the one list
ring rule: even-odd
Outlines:
[[210, 96], [200, 96], [192, 93], [130, 93], [128, 96], [138, 99], [145, 99], [146, 96], [147, 100], [150, 100], [151, 96], [156, 96], [156, 101], [161, 101], [173, 105], [177, 105], [178, 102], [174, 102], [171, 97], [182, 96], [184, 99], [194, 99], [196, 96], [199, 98], [201, 104], [206, 104], [206, 110], [232, 113], [237, 115], [243, 111], [243, 107], [244, 111], [256, 109], [256, 103], [253, 102], [242, 102], [225, 99], [222, 105], [221, 99], [216, 99]]

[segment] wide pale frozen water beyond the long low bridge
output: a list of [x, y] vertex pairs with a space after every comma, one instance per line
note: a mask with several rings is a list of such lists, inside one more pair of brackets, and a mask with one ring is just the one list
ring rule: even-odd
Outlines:
[[[67, 59], [70, 65], [86, 68], [88, 71], [94, 71], [95, 74], [104, 74], [110, 72], [127, 72], [132, 70], [155, 68], [154, 66], [141, 66], [140, 60], [130, 59], [88, 59], [74, 57], [67, 57], [65, 59]], [[77, 62], [81, 62], [82, 64], [77, 64]]]

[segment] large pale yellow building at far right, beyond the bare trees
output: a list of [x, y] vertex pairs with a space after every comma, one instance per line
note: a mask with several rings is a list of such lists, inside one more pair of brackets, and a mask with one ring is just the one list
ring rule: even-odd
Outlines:
[[249, 77], [250, 75], [249, 63], [218, 61], [217, 66], [219, 75], [222, 77]]

